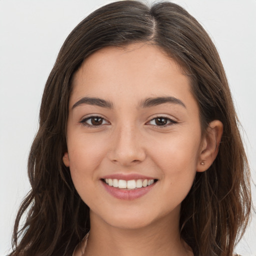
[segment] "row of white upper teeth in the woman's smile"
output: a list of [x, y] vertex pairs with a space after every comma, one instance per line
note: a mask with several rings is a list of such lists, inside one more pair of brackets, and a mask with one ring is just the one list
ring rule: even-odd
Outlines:
[[140, 188], [140, 187], [146, 187], [151, 184], [153, 184], [153, 179], [131, 179], [131, 180], [123, 180], [123, 179], [117, 179], [117, 178], [105, 178], [105, 182], [109, 186], [114, 186], [118, 188], [128, 188], [128, 189], [134, 189], [134, 188]]

